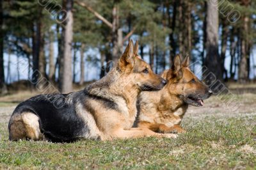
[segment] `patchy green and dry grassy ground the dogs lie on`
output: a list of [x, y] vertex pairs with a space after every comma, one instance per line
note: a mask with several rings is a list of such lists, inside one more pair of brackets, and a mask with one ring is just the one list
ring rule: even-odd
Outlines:
[[15, 102], [28, 96], [0, 98], [0, 169], [256, 169], [256, 95], [252, 93], [235, 95], [233, 107], [228, 104], [230, 95], [211, 97], [203, 107], [189, 107], [182, 121], [188, 132], [177, 139], [10, 142], [10, 114]]

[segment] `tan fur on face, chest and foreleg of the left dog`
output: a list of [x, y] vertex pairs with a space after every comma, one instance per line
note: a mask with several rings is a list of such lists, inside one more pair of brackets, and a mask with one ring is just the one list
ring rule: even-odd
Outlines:
[[[156, 84], [156, 86], [159, 84], [159, 77], [152, 72], [150, 66], [145, 63], [145, 61], [142, 61], [138, 57], [138, 43], [136, 43], [134, 49], [134, 61], [129, 61], [127, 59], [122, 61], [122, 58], [119, 61], [123, 73], [119, 79], [115, 80], [115, 84], [112, 84], [107, 91], [102, 91], [102, 89], [100, 89], [101, 91], [99, 90], [99, 93], [104, 93], [105, 96], [106, 94], [109, 94], [109, 97], [113, 98], [113, 100], [118, 103], [119, 109], [122, 112], [106, 110], [105, 106], [101, 105], [96, 100], [90, 102], [90, 105], [95, 109], [93, 117], [96, 120], [98, 128], [102, 132], [101, 139], [109, 140], [115, 138], [124, 139], [146, 136], [176, 137], [176, 135], [173, 134], [157, 134], [147, 128], [131, 128], [136, 118], [136, 101], [138, 94], [140, 93], [140, 89], [136, 88], [136, 86], [141, 85], [140, 82], [143, 81], [148, 81], [150, 84]], [[125, 51], [131, 52], [130, 50]], [[127, 65], [131, 65], [131, 67]], [[141, 73], [145, 68], [148, 68], [149, 70], [147, 75]], [[122, 94], [122, 97], [120, 94]]]

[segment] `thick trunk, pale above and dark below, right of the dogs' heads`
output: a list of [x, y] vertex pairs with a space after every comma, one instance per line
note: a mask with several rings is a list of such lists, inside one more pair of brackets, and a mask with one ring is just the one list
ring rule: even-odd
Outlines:
[[[207, 43], [206, 43], [206, 58], [205, 66], [207, 72], [204, 72], [204, 77], [207, 73], [214, 73], [215, 77], [209, 75], [205, 77], [207, 85], [211, 86], [216, 79], [222, 80], [221, 77], [221, 63], [218, 52], [218, 28], [219, 16], [218, 9], [211, 1], [207, 1]], [[216, 78], [216, 79], [215, 79]]]

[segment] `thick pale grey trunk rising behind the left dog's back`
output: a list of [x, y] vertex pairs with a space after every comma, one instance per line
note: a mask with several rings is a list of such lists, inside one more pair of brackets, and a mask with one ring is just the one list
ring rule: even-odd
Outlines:
[[63, 60], [61, 61], [60, 91], [70, 93], [72, 91], [72, 39], [73, 39], [73, 14], [72, 0], [63, 0], [63, 6], [67, 11], [67, 19], [63, 26]]

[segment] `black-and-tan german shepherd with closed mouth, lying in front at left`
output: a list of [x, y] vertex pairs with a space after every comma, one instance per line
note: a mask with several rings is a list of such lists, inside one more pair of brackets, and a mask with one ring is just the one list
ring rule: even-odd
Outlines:
[[141, 91], [157, 91], [166, 81], [138, 57], [132, 40], [113, 69], [83, 91], [38, 95], [20, 103], [10, 118], [9, 138], [73, 142], [78, 139], [176, 137], [132, 128]]

